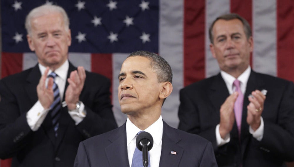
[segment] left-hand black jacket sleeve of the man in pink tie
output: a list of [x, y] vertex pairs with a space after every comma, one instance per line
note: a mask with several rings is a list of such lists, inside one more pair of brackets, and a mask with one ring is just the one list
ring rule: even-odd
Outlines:
[[[199, 110], [191, 99], [197, 97], [190, 97], [186, 91], [186, 89], [180, 90], [180, 106], [178, 110], [178, 117], [180, 122], [178, 129], [188, 133], [200, 135], [211, 141], [215, 150], [218, 149], [216, 142], [216, 127], [212, 126], [201, 130], [202, 127], [200, 127], [201, 120], [199, 116]], [[197, 92], [194, 92], [193, 94], [197, 94]]]

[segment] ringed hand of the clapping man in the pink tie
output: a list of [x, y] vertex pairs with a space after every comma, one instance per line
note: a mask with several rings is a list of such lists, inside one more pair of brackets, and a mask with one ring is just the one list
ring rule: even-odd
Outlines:
[[255, 90], [251, 92], [253, 97], [249, 97], [250, 101], [247, 106], [247, 123], [251, 126], [251, 128], [255, 131], [260, 126], [260, 116], [263, 112], [263, 104], [265, 100], [265, 95], [259, 90]]

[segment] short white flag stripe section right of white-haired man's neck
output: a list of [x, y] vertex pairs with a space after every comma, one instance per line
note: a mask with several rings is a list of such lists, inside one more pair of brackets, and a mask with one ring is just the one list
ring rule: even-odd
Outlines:
[[83, 66], [87, 71], [91, 71], [92, 69], [90, 53], [69, 52], [69, 61], [76, 67]]

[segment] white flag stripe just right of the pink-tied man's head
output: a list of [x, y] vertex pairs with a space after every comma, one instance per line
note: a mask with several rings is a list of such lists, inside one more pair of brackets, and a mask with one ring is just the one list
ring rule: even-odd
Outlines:
[[253, 3], [253, 69], [277, 76], [277, 5], [275, 0]]

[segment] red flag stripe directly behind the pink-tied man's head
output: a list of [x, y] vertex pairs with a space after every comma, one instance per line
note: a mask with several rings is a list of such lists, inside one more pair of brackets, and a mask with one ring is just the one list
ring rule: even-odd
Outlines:
[[[231, 13], [237, 13], [248, 21], [252, 29], [252, 1], [231, 0]], [[252, 67], [252, 54], [250, 56], [250, 66]]]

